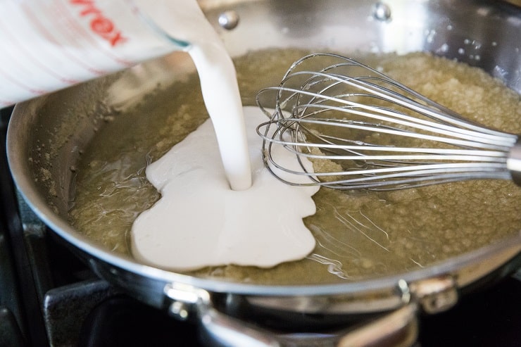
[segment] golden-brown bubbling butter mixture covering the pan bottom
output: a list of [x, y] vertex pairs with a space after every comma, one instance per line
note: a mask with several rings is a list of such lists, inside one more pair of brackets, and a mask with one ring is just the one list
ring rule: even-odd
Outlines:
[[[260, 51], [238, 58], [244, 105], [253, 105], [262, 87], [277, 85], [304, 54]], [[482, 70], [427, 53], [358, 59], [470, 120], [521, 133], [520, 96]], [[144, 175], [146, 165], [206, 118], [196, 75], [115, 115], [77, 168], [73, 225], [104, 247], [129, 253], [132, 222], [159, 198]], [[268, 270], [228, 265], [189, 274], [258, 284], [356, 281], [427, 267], [521, 229], [521, 189], [507, 181], [391, 192], [320, 189], [313, 198], [317, 213], [304, 222], [317, 246], [308, 258]]]

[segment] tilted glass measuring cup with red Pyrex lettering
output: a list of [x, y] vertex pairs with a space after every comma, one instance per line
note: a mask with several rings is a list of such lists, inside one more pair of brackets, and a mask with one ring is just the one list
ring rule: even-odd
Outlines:
[[156, 25], [157, 6], [132, 0], [0, 1], [0, 108], [187, 49], [188, 42]]

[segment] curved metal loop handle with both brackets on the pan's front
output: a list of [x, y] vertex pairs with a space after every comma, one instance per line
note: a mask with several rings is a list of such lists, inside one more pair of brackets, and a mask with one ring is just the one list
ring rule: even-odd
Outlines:
[[409, 347], [418, 339], [418, 312], [438, 313], [458, 301], [451, 275], [422, 279], [408, 284], [398, 281], [403, 305], [371, 322], [327, 333], [281, 334], [244, 322], [216, 310], [208, 291], [192, 286], [169, 284], [165, 294], [174, 301], [170, 312], [187, 317], [180, 302], [192, 304], [201, 333], [211, 346], [325, 346], [325, 347]]

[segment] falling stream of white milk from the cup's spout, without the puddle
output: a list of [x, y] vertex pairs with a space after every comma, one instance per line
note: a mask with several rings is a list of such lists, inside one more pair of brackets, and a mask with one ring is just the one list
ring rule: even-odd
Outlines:
[[163, 32], [190, 42], [187, 52], [199, 72], [228, 182], [234, 190], [248, 189], [251, 169], [239, 87], [232, 59], [220, 37], [195, 0], [158, 1], [155, 6], [146, 0], [134, 3], [144, 8], [142, 11], [154, 18]]

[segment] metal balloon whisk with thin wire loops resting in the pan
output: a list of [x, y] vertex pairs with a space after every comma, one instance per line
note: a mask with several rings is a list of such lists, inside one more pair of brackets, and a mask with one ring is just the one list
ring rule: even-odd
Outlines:
[[[265, 165], [287, 184], [392, 190], [513, 179], [521, 185], [517, 135], [465, 120], [350, 58], [305, 56], [278, 87], [261, 90], [257, 103], [270, 117], [257, 128]], [[272, 155], [277, 146], [294, 153], [302, 170], [277, 163]], [[320, 170], [306, 170], [302, 158]], [[310, 183], [280, 172], [306, 175]]]

